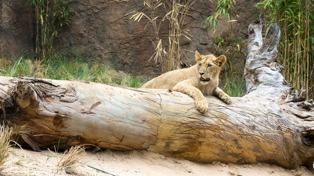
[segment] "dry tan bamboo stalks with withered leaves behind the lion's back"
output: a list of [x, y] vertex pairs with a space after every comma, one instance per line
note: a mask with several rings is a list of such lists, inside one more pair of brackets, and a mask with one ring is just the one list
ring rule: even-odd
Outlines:
[[[186, 37], [191, 40], [191, 35], [188, 34], [187, 29], [183, 28], [184, 21], [188, 14], [188, 10], [196, 0], [166, 0], [162, 3], [160, 0], [144, 0], [144, 7], [149, 9], [149, 15], [139, 12], [132, 11], [126, 16], [130, 16], [130, 19], [134, 21], [140, 21], [143, 17], [148, 20], [146, 26], [150, 23], [154, 28], [155, 39], [152, 40], [155, 52], [150, 58], [154, 58], [154, 61], [159, 61], [161, 64], [162, 72], [168, 72], [180, 68], [182, 63], [180, 48], [180, 38]], [[164, 14], [157, 14], [158, 8], [164, 8]], [[159, 11], [160, 12], [160, 11]], [[164, 46], [159, 30], [161, 23], [164, 21], [169, 22], [169, 35], [166, 40], [167, 49]], [[145, 26], [145, 28], [146, 28]]]

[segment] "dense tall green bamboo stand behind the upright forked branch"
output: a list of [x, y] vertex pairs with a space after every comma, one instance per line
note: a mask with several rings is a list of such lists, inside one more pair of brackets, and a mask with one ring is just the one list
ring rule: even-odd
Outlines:
[[[281, 40], [278, 62], [285, 67], [284, 78], [295, 88], [307, 88], [307, 99], [314, 95], [314, 1], [264, 0], [267, 25], [279, 23]], [[309, 97], [310, 96], [310, 97]]]

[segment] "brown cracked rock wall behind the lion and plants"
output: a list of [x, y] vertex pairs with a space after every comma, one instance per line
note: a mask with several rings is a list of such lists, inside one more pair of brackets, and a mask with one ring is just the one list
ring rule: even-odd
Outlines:
[[[194, 52], [201, 54], [214, 53], [217, 49], [217, 34], [247, 36], [247, 26], [258, 17], [258, 9], [253, 5], [258, 0], [237, 0], [232, 14], [238, 14], [238, 22], [221, 25], [215, 34], [213, 30], [205, 32], [204, 20], [214, 14], [215, 2], [197, 1], [192, 5], [184, 27], [189, 29], [192, 40], [182, 38], [181, 47], [186, 49], [182, 59], [194, 64]], [[0, 53], [2, 57], [18, 55], [24, 50], [35, 48], [35, 17], [33, 8], [20, 0], [0, 0]], [[117, 69], [140, 72], [149, 76], [161, 73], [160, 64], [148, 61], [154, 53], [151, 39], [154, 31], [149, 24], [144, 30], [147, 20], [140, 22], [129, 20], [125, 14], [133, 10], [148, 13], [143, 0], [71, 0], [71, 9], [77, 12], [68, 26], [64, 26], [54, 47], [70, 53], [79, 53], [87, 60], [100, 62], [110, 61]], [[160, 8], [162, 9], [162, 8]], [[145, 11], [146, 10], [146, 11]], [[162, 10], [160, 11], [162, 13]], [[222, 21], [220, 22], [222, 24]], [[168, 23], [160, 28], [164, 43], [168, 41]], [[245, 48], [246, 49], [246, 48]], [[189, 51], [188, 51], [189, 50]], [[218, 51], [215, 54], [223, 54]], [[244, 56], [243, 56], [244, 57]]]

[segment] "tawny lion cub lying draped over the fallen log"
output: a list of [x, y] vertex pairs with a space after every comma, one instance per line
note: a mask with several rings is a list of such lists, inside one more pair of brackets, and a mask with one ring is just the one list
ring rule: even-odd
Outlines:
[[202, 55], [195, 51], [197, 63], [190, 68], [169, 71], [147, 83], [141, 88], [172, 89], [185, 93], [195, 99], [196, 108], [201, 112], [208, 110], [208, 104], [203, 95], [218, 96], [227, 104], [231, 98], [218, 87], [218, 76], [226, 57], [215, 57], [213, 54]]

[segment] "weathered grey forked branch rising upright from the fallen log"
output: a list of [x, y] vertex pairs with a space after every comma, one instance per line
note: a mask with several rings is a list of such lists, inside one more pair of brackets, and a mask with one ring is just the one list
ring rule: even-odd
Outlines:
[[[245, 97], [253, 98], [256, 94], [278, 101], [282, 94], [288, 93], [290, 85], [280, 74], [284, 69], [277, 63], [277, 45], [280, 38], [278, 24], [270, 24], [262, 42], [263, 19], [257, 19], [249, 25], [248, 50], [245, 65], [247, 93]], [[250, 94], [250, 93], [253, 94]], [[260, 92], [260, 93], [257, 93]]]

